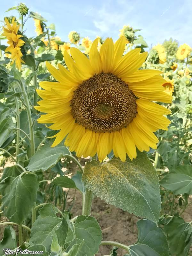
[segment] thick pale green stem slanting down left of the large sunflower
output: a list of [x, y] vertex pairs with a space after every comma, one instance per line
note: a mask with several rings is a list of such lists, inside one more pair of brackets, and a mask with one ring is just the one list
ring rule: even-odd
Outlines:
[[23, 90], [23, 98], [26, 104], [26, 111], [28, 116], [28, 124], [29, 124], [29, 133], [30, 133], [30, 147], [31, 147], [31, 154], [30, 156], [33, 156], [35, 154], [35, 139], [34, 139], [34, 131], [33, 131], [33, 121], [31, 118], [31, 109], [29, 105], [29, 100], [25, 91], [24, 84], [20, 81], [22, 90]]

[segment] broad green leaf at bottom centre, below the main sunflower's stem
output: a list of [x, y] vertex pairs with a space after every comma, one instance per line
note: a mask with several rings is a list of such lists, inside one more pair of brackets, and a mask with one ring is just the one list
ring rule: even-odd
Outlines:
[[[78, 256], [93, 256], [99, 250], [102, 240], [102, 233], [97, 220], [91, 216], [80, 215], [74, 224], [75, 240], [70, 243], [70, 247], [74, 244], [80, 244], [84, 240], [81, 247], [81, 253]], [[71, 230], [68, 232], [68, 238], [74, 235]]]

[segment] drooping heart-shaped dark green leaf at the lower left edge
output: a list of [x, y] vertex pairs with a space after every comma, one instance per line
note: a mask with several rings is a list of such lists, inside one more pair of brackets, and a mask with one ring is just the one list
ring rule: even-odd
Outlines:
[[1, 181], [2, 210], [5, 216], [19, 225], [27, 218], [36, 202], [39, 183], [33, 174], [7, 177]]

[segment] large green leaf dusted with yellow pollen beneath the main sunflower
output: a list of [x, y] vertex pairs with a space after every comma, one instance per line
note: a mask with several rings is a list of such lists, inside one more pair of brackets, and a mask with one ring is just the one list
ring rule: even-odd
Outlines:
[[[126, 162], [112, 159], [100, 164], [85, 164], [84, 185], [108, 204], [158, 223], [161, 209], [160, 189], [155, 168], [145, 153]], [[137, 202], [137, 203], [136, 203]]]

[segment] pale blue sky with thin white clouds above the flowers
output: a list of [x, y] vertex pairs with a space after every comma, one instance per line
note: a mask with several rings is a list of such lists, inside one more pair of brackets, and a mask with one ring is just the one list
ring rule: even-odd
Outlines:
[[[20, 1], [1, 1], [0, 20], [5, 15], [16, 15], [16, 11], [4, 13]], [[54, 23], [57, 35], [68, 41], [68, 33], [76, 30], [82, 37], [111, 36], [118, 38], [119, 29], [130, 25], [142, 29], [139, 33], [148, 45], [163, 43], [164, 39], [177, 39], [179, 44], [192, 45], [191, 0], [24, 0], [33, 12], [40, 13]], [[35, 36], [33, 19], [25, 25], [26, 35]]]

